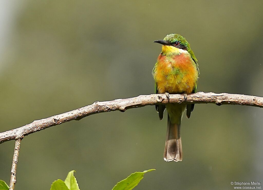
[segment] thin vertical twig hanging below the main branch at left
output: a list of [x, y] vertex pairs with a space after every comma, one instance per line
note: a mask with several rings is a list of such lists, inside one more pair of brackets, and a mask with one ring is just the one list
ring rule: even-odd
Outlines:
[[17, 170], [18, 155], [20, 150], [20, 143], [21, 143], [21, 138], [18, 138], [15, 142], [9, 190], [14, 190], [16, 184], [16, 170]]

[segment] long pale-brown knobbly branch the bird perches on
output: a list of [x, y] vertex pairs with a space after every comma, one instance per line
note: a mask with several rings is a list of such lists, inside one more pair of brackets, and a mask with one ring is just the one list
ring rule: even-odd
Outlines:
[[6, 141], [23, 138], [31, 133], [46, 129], [51, 126], [59, 125], [72, 120], [80, 120], [83, 117], [109, 111], [119, 110], [124, 112], [127, 109], [135, 107], [143, 107], [146, 105], [166, 104], [166, 103], [179, 103], [179, 104], [206, 104], [214, 103], [216, 105], [222, 104], [235, 104], [247, 105], [263, 108], [263, 97], [249, 96], [241, 94], [215, 94], [198, 92], [195, 94], [150, 94], [139, 95], [126, 99], [116, 99], [112, 101], [94, 102], [91, 105], [78, 108], [63, 114], [54, 115], [46, 119], [35, 120], [30, 124], [0, 133], [0, 144]]

